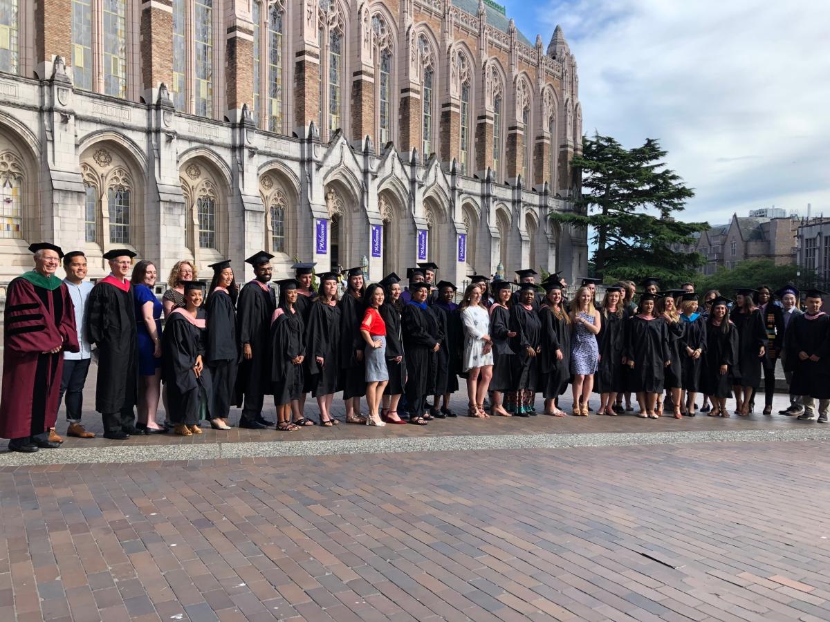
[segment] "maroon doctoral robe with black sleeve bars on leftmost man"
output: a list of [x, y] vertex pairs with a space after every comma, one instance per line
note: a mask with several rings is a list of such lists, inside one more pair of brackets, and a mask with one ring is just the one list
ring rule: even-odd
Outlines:
[[[19, 439], [55, 425], [63, 352], [78, 352], [78, 333], [65, 284], [50, 290], [12, 280], [4, 318], [0, 438]], [[43, 354], [55, 347], [61, 350]]]

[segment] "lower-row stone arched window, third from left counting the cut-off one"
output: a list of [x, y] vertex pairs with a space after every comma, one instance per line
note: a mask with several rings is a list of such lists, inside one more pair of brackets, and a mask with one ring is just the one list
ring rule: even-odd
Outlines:
[[178, 180], [184, 196], [185, 246], [199, 270], [227, 256], [230, 180], [208, 149], [191, 149], [179, 160]]

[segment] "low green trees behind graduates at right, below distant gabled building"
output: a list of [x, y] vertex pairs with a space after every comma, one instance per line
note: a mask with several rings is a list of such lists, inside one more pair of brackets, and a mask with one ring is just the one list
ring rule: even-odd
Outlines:
[[692, 280], [699, 294], [702, 295], [708, 289], [717, 289], [728, 298], [734, 297], [735, 289], [739, 287], [758, 289], [760, 285], [769, 285], [773, 291], [790, 283], [799, 288], [815, 287], [815, 271], [800, 271], [799, 275], [798, 265], [795, 264], [775, 265], [773, 260], [766, 259], [745, 260], [739, 261], [734, 268], [721, 266], [714, 275], [699, 275]]

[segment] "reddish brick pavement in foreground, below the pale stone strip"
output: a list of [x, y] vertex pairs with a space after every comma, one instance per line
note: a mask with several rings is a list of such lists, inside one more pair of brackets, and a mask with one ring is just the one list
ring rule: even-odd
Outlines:
[[827, 469], [819, 442], [7, 467], [0, 620], [830, 620]]

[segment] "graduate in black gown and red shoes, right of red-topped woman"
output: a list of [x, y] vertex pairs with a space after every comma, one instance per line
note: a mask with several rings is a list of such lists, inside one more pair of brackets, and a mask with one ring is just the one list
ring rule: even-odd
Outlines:
[[394, 272], [378, 282], [386, 296], [380, 305], [380, 317], [386, 324], [386, 369], [389, 381], [383, 389], [383, 408], [380, 418], [386, 423], [405, 424], [398, 415], [398, 402], [407, 381], [407, 363], [403, 357], [403, 332], [401, 330], [401, 279]]

